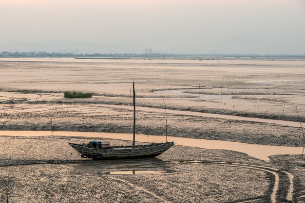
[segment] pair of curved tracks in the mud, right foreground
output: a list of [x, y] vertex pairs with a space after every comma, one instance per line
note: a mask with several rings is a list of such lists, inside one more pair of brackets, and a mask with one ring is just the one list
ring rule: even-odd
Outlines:
[[[251, 164], [240, 164], [240, 163], [231, 163], [231, 162], [216, 162], [216, 161], [190, 161], [190, 160], [163, 160], [167, 163], [173, 164], [212, 164], [212, 165], [221, 165], [221, 166], [229, 166], [229, 167], [240, 167], [240, 168], [247, 168], [247, 169], [256, 169], [262, 170], [268, 173], [271, 173], [275, 177], [275, 183], [273, 186], [272, 194], [270, 196], [270, 200], [272, 203], [276, 203], [276, 193], [279, 188], [279, 181], [280, 176], [278, 172], [281, 172], [279, 169], [271, 168], [271, 167], [264, 167], [258, 165], [251, 165]], [[289, 187], [287, 190], [286, 200], [289, 202], [293, 201], [293, 175], [289, 172], [282, 171], [286, 173], [289, 179]]]

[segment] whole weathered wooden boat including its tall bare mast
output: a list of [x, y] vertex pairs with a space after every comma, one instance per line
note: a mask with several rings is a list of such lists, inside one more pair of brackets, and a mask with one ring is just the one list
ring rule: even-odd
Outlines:
[[92, 159], [128, 159], [155, 157], [173, 146], [173, 142], [151, 143], [135, 146], [135, 91], [133, 82], [133, 145], [110, 146], [109, 142], [91, 141], [89, 144], [69, 143], [83, 158]]

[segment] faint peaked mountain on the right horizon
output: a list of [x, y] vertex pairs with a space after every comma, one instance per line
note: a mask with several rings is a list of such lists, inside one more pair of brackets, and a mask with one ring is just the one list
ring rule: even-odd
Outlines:
[[251, 34], [231, 38], [215, 46], [216, 53], [304, 54], [305, 42], [276, 41]]

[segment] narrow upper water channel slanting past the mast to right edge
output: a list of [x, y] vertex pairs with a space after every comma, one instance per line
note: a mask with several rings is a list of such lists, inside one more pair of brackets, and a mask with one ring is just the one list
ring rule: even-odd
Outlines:
[[[101, 104], [101, 106], [133, 110], [133, 106], [127, 106], [127, 105]], [[292, 127], [301, 127], [300, 122], [286, 121], [286, 120], [249, 118], [249, 117], [230, 116], [230, 115], [222, 115], [222, 114], [210, 114], [210, 113], [201, 113], [201, 112], [192, 112], [192, 111], [180, 111], [180, 110], [171, 110], [171, 109], [166, 109], [165, 110], [165, 109], [152, 108], [152, 107], [136, 107], [136, 110], [148, 111], [148, 112], [158, 112], [158, 113], [168, 113], [168, 114], [179, 114], [179, 115], [187, 115], [187, 116], [199, 116], [199, 117], [209, 117], [209, 118], [224, 118], [224, 119], [231, 119], [231, 120], [254, 121], [254, 122], [287, 125], [287, 126], [292, 126]], [[302, 126], [305, 126], [305, 123], [302, 123]]]

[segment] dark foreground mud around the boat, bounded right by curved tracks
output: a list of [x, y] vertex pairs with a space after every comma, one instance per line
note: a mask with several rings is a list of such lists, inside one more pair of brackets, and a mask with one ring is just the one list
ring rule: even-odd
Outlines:
[[[273, 171], [280, 180], [274, 198], [287, 198], [282, 187], [289, 186], [288, 178], [275, 165], [244, 153], [174, 146], [157, 158], [93, 161], [80, 158], [68, 146], [92, 139], [96, 138], [1, 136], [1, 201], [6, 198], [9, 175], [12, 202], [272, 202]], [[109, 173], [126, 170], [166, 172]]]

